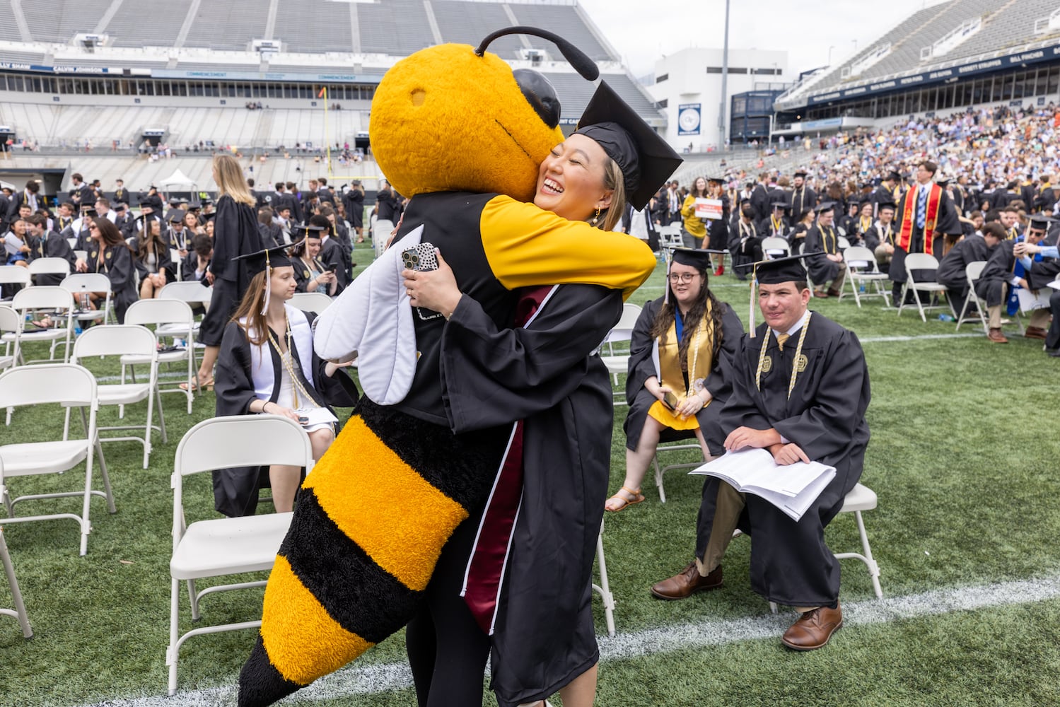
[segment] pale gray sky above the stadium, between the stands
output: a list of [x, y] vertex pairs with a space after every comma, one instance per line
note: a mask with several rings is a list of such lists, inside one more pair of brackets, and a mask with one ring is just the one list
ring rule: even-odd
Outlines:
[[[729, 49], [788, 51], [799, 71], [849, 57], [924, 6], [944, 0], [735, 0], [729, 8]], [[723, 0], [579, 0], [635, 76], [651, 73], [664, 54], [688, 47], [721, 48]], [[874, 12], [886, 7], [888, 12]]]

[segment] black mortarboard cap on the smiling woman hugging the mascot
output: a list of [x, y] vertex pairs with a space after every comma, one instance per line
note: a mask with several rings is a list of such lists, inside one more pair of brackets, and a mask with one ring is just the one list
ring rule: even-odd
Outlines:
[[626, 200], [637, 211], [684, 161], [605, 82], [578, 121], [576, 132], [596, 140], [622, 171]]

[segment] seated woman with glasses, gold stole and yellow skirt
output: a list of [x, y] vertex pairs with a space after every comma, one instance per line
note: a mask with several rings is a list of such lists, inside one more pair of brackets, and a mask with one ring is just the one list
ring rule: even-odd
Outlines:
[[711, 252], [721, 251], [674, 250], [667, 294], [648, 302], [634, 325], [625, 382], [625, 480], [604, 503], [608, 511], [644, 499], [640, 482], [660, 439], [694, 432], [705, 459], [725, 453], [719, 417], [731, 390], [743, 324], [707, 286]]

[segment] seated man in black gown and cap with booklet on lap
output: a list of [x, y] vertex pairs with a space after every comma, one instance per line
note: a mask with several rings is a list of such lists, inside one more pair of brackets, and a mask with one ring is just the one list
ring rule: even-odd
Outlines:
[[725, 447], [765, 448], [783, 465], [817, 461], [834, 466], [835, 477], [796, 523], [763, 498], [708, 476], [695, 558], [652, 594], [684, 599], [721, 586], [722, 556], [740, 528], [750, 535], [752, 588], [800, 613], [783, 643], [811, 651], [843, 623], [840, 563], [825, 544], [825, 526], [861, 478], [870, 394], [858, 337], [807, 308], [810, 289], [798, 259], [757, 264], [765, 323], [750, 330], [734, 359], [732, 393], [722, 408]]

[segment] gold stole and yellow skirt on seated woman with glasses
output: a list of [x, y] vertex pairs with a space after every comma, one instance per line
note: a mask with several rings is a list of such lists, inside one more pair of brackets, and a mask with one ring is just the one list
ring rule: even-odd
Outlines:
[[[674, 316], [681, 316], [681, 311], [676, 307], [674, 307]], [[710, 374], [710, 369], [713, 368], [713, 341], [714, 323], [710, 318], [710, 302], [707, 302], [703, 319], [697, 322], [695, 333], [692, 334], [692, 340], [688, 344], [688, 387], [686, 388], [685, 376], [681, 370], [681, 356], [678, 353], [681, 341], [677, 339], [677, 324], [676, 321], [670, 322], [670, 328], [667, 330], [666, 336], [660, 337], [658, 342], [659, 385], [671, 388], [682, 402], [689, 395], [697, 392], [699, 388], [696, 388], [695, 382], [706, 381]], [[684, 394], [682, 394], [682, 391]], [[703, 407], [707, 407], [711, 402], [713, 402], [713, 399]], [[664, 405], [662, 401], [652, 403], [652, 406], [648, 409], [648, 414], [672, 429], [697, 429], [700, 427], [700, 423], [696, 421], [694, 414], [682, 419]]]

